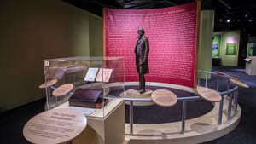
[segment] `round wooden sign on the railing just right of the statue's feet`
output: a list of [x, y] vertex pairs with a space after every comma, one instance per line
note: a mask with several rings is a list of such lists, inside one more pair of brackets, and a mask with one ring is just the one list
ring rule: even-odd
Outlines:
[[171, 107], [177, 103], [177, 95], [166, 89], [155, 90], [151, 98], [154, 103], [162, 107]]

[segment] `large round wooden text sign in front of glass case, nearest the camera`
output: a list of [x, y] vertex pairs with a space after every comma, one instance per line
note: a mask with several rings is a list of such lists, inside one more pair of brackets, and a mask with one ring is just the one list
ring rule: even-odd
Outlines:
[[68, 143], [84, 130], [86, 124], [82, 112], [57, 108], [31, 118], [23, 128], [23, 135], [32, 143]]

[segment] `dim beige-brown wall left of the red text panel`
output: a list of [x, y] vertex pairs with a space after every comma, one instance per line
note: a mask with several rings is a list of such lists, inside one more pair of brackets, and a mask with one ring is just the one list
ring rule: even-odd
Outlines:
[[100, 55], [90, 41], [102, 43], [102, 19], [61, 0], [3, 0], [0, 20], [0, 112], [44, 97], [44, 59]]

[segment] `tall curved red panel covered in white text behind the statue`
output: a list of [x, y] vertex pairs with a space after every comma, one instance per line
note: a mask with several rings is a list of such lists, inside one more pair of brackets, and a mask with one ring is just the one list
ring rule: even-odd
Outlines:
[[138, 81], [134, 47], [143, 27], [150, 45], [147, 82], [195, 88], [197, 4], [163, 9], [104, 9], [105, 56], [123, 56], [125, 82]]

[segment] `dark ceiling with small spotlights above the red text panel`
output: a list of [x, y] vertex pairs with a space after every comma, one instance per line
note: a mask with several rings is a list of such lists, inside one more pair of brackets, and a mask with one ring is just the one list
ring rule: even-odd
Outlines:
[[[63, 0], [80, 9], [102, 16], [102, 8], [154, 9], [195, 0]], [[214, 31], [241, 30], [256, 35], [255, 0], [201, 0], [201, 9], [215, 10]], [[227, 22], [230, 20], [230, 22]]]

